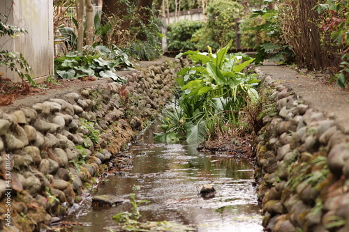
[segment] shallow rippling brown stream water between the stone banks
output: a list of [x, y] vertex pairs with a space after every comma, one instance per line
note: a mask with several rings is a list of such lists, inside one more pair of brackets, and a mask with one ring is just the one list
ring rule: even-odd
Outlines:
[[[197, 144], [161, 144], [153, 140], [157, 125], [151, 125], [125, 155], [133, 169], [108, 176], [92, 195], [112, 194], [124, 199], [136, 194], [142, 222], [168, 221], [194, 227], [196, 231], [263, 231], [255, 187], [253, 164], [232, 155], [198, 152]], [[213, 198], [199, 192], [211, 184]], [[130, 203], [92, 207], [91, 199], [71, 212], [65, 221], [78, 222], [71, 231], [107, 231], [115, 226], [112, 216], [132, 210]]]

